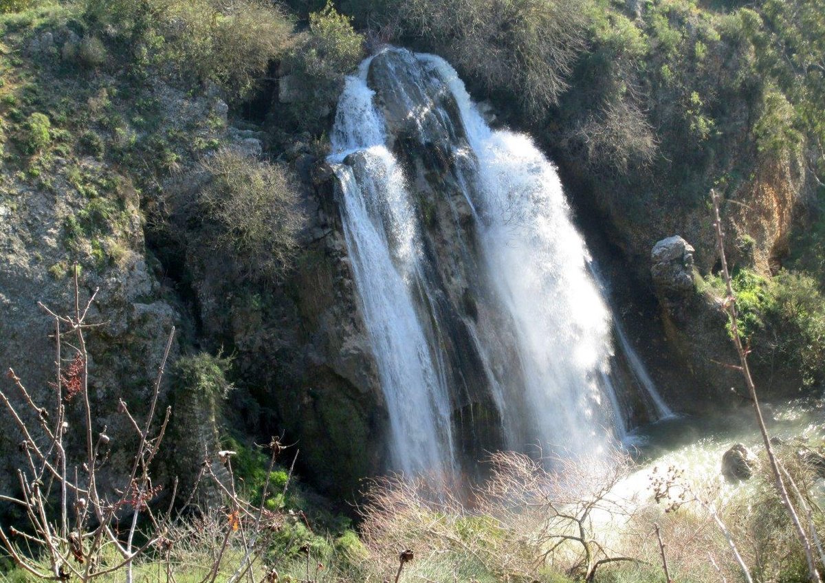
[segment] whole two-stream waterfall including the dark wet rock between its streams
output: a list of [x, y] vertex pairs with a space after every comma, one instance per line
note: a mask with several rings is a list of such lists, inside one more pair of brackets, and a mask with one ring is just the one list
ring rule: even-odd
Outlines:
[[347, 78], [328, 161], [395, 469], [624, 438], [610, 309], [529, 138], [488, 127], [443, 59], [384, 49]]

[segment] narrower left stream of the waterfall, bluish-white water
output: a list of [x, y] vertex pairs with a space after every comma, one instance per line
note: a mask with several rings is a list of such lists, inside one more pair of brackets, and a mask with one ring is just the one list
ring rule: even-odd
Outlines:
[[[388, 402], [395, 468], [445, 473], [455, 469], [449, 398], [413, 307], [410, 280], [421, 250], [403, 173], [384, 146], [383, 123], [364, 82], [369, 64], [362, 63], [359, 77], [347, 78], [330, 159], [342, 188], [344, 234]], [[362, 157], [360, 180], [342, 163], [348, 153]]]

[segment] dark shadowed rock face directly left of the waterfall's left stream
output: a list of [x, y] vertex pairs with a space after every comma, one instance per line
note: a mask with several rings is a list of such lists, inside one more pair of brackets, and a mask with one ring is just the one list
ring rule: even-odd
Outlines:
[[203, 333], [232, 346], [233, 370], [261, 411], [250, 432], [297, 442], [301, 475], [351, 500], [385, 465], [384, 397], [335, 205], [336, 181], [315, 159], [305, 180], [301, 251], [279, 281], [247, 280], [231, 256], [190, 257]]

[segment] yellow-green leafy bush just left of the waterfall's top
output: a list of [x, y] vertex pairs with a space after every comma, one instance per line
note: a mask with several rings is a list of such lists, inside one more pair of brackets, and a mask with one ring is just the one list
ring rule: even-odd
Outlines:
[[332, 2], [309, 15], [309, 32], [301, 36], [287, 59], [290, 82], [301, 95], [291, 107], [300, 129], [314, 134], [328, 129], [344, 75], [364, 56], [363, 42], [351, 18], [336, 12]]

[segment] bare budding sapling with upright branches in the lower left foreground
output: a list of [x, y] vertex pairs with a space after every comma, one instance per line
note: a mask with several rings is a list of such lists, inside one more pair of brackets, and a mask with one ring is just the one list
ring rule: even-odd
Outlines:
[[[85, 331], [94, 324], [87, 323], [86, 317], [96, 294], [97, 289], [85, 305], [81, 303], [78, 267], [75, 266], [74, 313], [59, 316], [40, 304], [54, 318], [56, 397], [52, 410], [35, 403], [34, 397], [12, 369], [8, 370], [7, 376], [14, 383], [22, 405], [16, 405], [7, 393], [0, 390], [0, 401], [11, 414], [23, 437], [21, 451], [27, 463], [26, 469], [17, 471], [20, 497], [2, 496], [0, 499], [20, 506], [28, 519], [28, 524], [23, 529], [12, 526], [7, 531], [0, 527], [0, 541], [19, 567], [32, 575], [54, 581], [64, 581], [70, 576], [75, 576], [80, 581], [91, 581], [120, 569], [125, 569], [126, 581], [131, 581], [135, 558], [164, 536], [163, 528], [159, 528], [141, 546], [134, 545], [138, 515], [146, 510], [148, 501], [156, 496], [159, 489], [152, 484], [149, 467], [158, 454], [171, 410], [167, 409], [158, 430], [153, 430], [153, 419], [175, 330], [173, 327], [169, 332], [163, 359], [158, 365], [158, 376], [153, 384], [148, 415], [143, 424], [135, 420], [122, 399], [118, 402], [118, 411], [125, 416], [128, 425], [138, 436], [138, 448], [125, 484], [115, 490], [117, 495], [110, 499], [101, 494], [99, 476], [111, 439], [106, 435], [106, 427], [94, 426], [94, 414], [88, 396]], [[62, 355], [64, 346], [70, 346], [74, 352], [65, 366]], [[68, 429], [66, 403], [75, 398], [81, 402], [85, 421], [85, 451], [81, 459], [69, 460], [65, 443]], [[20, 407], [28, 411], [23, 412]], [[37, 419], [38, 430], [25, 421], [26, 415], [31, 414]], [[55, 491], [59, 491], [59, 511], [56, 516], [50, 505]], [[130, 527], [125, 536], [116, 534], [113, 523], [127, 509], [131, 509], [132, 515]], [[110, 545], [120, 555], [120, 561], [105, 567], [101, 564], [101, 552]], [[40, 564], [26, 552], [32, 546], [40, 548], [48, 557], [48, 572], [43, 571]]]

